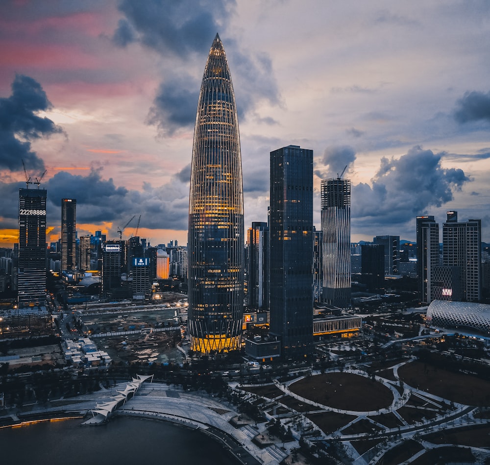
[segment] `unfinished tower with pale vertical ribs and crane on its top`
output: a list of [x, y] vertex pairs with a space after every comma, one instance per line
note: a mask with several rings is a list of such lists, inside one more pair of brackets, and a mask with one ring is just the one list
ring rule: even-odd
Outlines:
[[350, 305], [350, 181], [321, 181], [323, 231], [323, 301]]

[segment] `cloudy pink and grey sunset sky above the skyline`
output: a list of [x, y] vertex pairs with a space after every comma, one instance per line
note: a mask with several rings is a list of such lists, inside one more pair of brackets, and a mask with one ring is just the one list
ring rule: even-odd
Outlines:
[[[216, 33], [239, 111], [245, 225], [267, 220], [269, 153], [314, 150], [352, 182], [352, 240], [415, 240], [415, 217], [482, 219], [490, 241], [488, 0], [2, 0], [0, 242], [47, 170], [78, 235], [187, 242], [198, 91]], [[35, 186], [31, 186], [35, 188]], [[127, 227], [134, 233], [136, 219]]]

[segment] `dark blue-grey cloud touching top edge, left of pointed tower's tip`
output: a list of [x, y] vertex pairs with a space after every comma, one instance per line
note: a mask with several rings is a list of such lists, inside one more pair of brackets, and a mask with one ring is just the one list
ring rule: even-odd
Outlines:
[[[114, 41], [125, 46], [141, 42], [162, 55], [185, 58], [191, 52], [209, 50], [234, 2], [224, 0], [122, 0], [120, 22]], [[134, 33], [136, 31], [136, 33]]]

